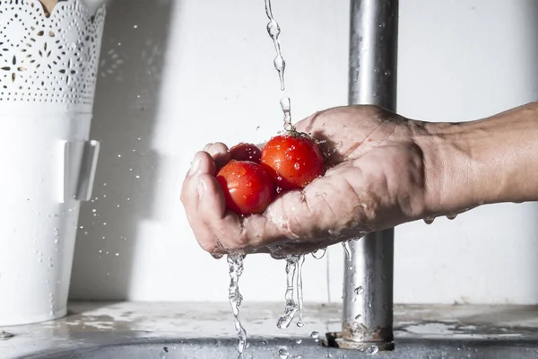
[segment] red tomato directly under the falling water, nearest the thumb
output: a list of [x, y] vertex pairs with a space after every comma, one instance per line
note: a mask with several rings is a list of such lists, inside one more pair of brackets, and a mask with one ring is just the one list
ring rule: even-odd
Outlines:
[[275, 136], [262, 150], [262, 166], [282, 189], [303, 188], [323, 172], [323, 155], [308, 136]]

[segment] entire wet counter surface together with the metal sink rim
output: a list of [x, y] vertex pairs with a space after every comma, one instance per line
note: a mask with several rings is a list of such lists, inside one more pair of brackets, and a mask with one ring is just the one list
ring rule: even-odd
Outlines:
[[[271, 302], [241, 306], [244, 359], [372, 357], [311, 337], [340, 330], [341, 304], [306, 303], [300, 328], [276, 328], [282, 309]], [[232, 318], [226, 302], [72, 302], [63, 319], [0, 328], [13, 334], [0, 337], [0, 359], [236, 359]], [[374, 357], [538, 358], [538, 307], [396, 305], [395, 351]]]

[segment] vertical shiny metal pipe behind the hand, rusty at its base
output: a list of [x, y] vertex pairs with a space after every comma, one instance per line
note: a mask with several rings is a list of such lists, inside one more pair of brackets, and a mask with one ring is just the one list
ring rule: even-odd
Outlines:
[[[398, 0], [351, 0], [349, 103], [395, 111]], [[341, 337], [392, 349], [394, 229], [351, 241]]]

